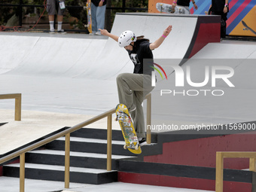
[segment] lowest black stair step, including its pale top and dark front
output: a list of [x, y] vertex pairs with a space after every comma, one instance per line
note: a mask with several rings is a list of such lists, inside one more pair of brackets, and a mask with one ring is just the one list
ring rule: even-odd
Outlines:
[[[41, 179], [47, 181], [64, 181], [65, 166], [25, 163], [25, 169], [26, 178]], [[19, 163], [4, 166], [3, 170], [5, 176], [20, 177]], [[84, 184], [104, 184], [117, 181], [117, 171], [78, 168], [71, 166], [70, 181]]]

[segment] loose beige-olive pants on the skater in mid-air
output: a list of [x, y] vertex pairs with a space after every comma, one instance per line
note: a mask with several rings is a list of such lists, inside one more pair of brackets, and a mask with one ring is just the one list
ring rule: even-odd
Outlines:
[[[123, 73], [117, 77], [119, 102], [126, 105], [133, 119], [133, 126], [139, 138], [145, 138], [145, 120], [142, 102], [153, 90], [151, 75]], [[136, 110], [133, 111], [133, 109]]]

